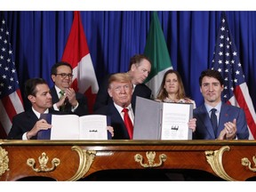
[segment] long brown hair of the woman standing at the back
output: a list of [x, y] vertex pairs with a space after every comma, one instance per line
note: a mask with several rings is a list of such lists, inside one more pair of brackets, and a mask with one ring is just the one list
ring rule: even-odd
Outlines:
[[168, 97], [168, 92], [166, 92], [166, 90], [164, 89], [166, 76], [168, 76], [168, 74], [176, 74], [176, 76], [177, 76], [177, 80], [178, 80], [178, 83], [179, 83], [179, 89], [178, 89], [178, 92], [177, 92], [177, 99], [180, 100], [180, 99], [186, 98], [186, 93], [185, 93], [185, 89], [184, 89], [184, 85], [182, 83], [180, 73], [176, 70], [169, 69], [164, 73], [164, 77], [163, 77], [163, 80], [162, 80], [162, 83], [161, 83], [161, 86], [160, 86], [160, 90], [157, 94], [156, 99], [164, 100], [166, 97]]

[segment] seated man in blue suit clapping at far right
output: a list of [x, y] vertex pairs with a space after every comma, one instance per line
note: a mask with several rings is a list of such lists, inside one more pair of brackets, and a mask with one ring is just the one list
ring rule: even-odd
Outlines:
[[[221, 101], [224, 80], [219, 71], [207, 69], [199, 77], [204, 104], [194, 109], [197, 140], [248, 140], [244, 110]], [[215, 122], [215, 123], [214, 123]], [[215, 128], [214, 128], [215, 127]]]

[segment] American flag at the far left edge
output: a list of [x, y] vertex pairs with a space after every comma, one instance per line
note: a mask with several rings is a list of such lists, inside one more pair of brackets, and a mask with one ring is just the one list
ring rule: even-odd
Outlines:
[[12, 127], [12, 116], [24, 111], [10, 33], [0, 16], [0, 139], [5, 139]]

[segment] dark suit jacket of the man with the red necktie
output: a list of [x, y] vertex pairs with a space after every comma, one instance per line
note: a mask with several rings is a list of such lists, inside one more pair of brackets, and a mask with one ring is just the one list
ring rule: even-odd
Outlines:
[[94, 112], [97, 115], [105, 115], [110, 118], [110, 125], [114, 128], [114, 137], [112, 140], [130, 140], [129, 134], [126, 130], [124, 120], [119, 114], [113, 102], [108, 103]]

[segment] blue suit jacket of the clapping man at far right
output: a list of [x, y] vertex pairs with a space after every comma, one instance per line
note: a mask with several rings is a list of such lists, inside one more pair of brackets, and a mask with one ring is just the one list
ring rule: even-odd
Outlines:
[[193, 116], [196, 118], [196, 132], [194, 132], [193, 139], [215, 140], [220, 135], [221, 130], [223, 130], [224, 124], [233, 122], [234, 118], [236, 118], [236, 138], [238, 140], [248, 140], [249, 138], [249, 131], [242, 108], [237, 108], [222, 102], [217, 137], [214, 135], [211, 119], [204, 105], [195, 108]]

